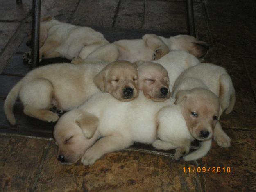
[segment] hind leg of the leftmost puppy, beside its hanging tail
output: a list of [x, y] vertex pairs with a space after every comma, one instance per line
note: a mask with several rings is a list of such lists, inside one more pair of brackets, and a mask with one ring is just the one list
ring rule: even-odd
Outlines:
[[53, 87], [46, 79], [36, 79], [27, 83], [20, 91], [24, 113], [43, 121], [54, 122], [59, 116], [50, 111]]

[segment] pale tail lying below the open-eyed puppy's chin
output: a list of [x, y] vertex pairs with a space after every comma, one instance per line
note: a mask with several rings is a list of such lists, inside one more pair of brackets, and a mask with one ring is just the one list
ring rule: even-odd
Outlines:
[[211, 142], [212, 142], [211, 139], [200, 142], [199, 149], [197, 149], [196, 151], [193, 151], [192, 153], [184, 156], [183, 159], [186, 160], [186, 161], [190, 161], [190, 160], [197, 160], [199, 158], [202, 158], [211, 149]]

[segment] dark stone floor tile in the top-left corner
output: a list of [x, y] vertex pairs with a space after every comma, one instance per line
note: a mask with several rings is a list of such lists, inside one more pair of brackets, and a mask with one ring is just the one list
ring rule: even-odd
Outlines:
[[[32, 7], [31, 0], [22, 0], [22, 4], [16, 4], [16, 1], [1, 1], [0, 20], [23, 20]], [[2, 28], [2, 27], [1, 27]]]

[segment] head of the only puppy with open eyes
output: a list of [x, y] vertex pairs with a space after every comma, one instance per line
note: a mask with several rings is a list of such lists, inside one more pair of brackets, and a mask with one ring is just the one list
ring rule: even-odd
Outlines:
[[212, 138], [220, 114], [217, 95], [203, 88], [180, 90], [176, 95], [175, 104], [180, 104], [182, 115], [194, 138], [197, 140]]

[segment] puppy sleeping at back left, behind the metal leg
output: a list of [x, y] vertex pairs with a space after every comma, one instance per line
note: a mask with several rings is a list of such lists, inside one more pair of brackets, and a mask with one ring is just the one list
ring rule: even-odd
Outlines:
[[[31, 38], [27, 40], [27, 45], [29, 46], [30, 44]], [[39, 38], [40, 60], [53, 57], [65, 57], [71, 60], [78, 56], [86, 59], [91, 52], [104, 45], [109, 45], [109, 42], [101, 33], [96, 32], [90, 27], [59, 22], [50, 16], [44, 17], [41, 20]], [[118, 52], [114, 46], [111, 46], [111, 49], [113, 53]], [[27, 60], [27, 56], [29, 54], [25, 53], [23, 60]], [[113, 54], [113, 58], [107, 57], [105, 61], [116, 61], [116, 56]], [[98, 59], [104, 60], [105, 58]]]

